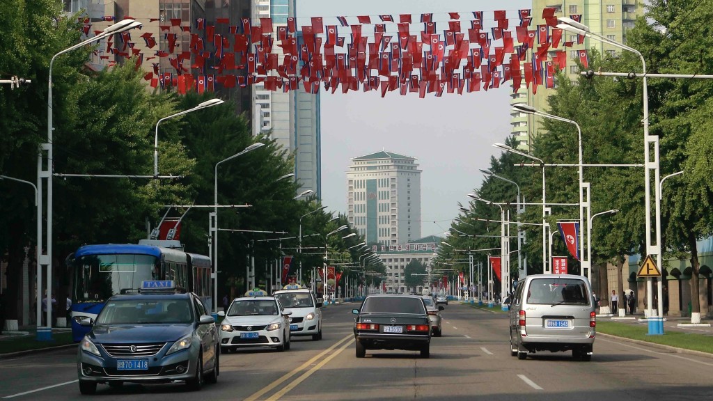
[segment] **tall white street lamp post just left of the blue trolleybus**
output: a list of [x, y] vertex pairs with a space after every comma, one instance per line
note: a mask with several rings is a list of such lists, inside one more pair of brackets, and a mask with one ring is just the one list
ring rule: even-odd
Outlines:
[[[46, 265], [47, 266], [47, 296], [51, 297], [52, 295], [52, 175], [53, 175], [53, 170], [54, 170], [54, 161], [53, 161], [53, 123], [52, 123], [52, 66], [54, 65], [54, 60], [62, 55], [65, 54], [69, 51], [73, 51], [75, 49], [79, 49], [80, 47], [86, 46], [88, 44], [91, 44], [94, 41], [99, 41], [101, 39], [106, 38], [107, 36], [111, 36], [113, 34], [120, 34], [123, 31], [128, 31], [129, 29], [134, 29], [139, 26], [142, 26], [138, 21], [134, 21], [133, 19], [124, 19], [122, 21], [117, 22], [116, 24], [113, 24], [109, 26], [108, 28], [104, 29], [101, 34], [98, 34], [96, 36], [93, 36], [89, 39], [86, 39], [85, 41], [81, 41], [78, 44], [75, 44], [73, 46], [68, 47], [67, 49], [64, 49], [63, 51], [60, 51], [59, 53], [55, 54], [52, 56], [52, 59], [49, 62], [49, 73], [48, 73], [48, 79], [47, 79], [47, 143], [42, 143], [40, 146], [40, 151], [37, 155], [37, 221], [38, 226], [41, 228], [41, 221], [42, 221], [42, 201], [43, 201], [43, 186], [42, 186], [42, 179], [46, 178], [47, 179], [47, 248], [46, 252], [42, 252], [42, 241], [41, 241], [41, 235], [38, 235], [38, 238], [40, 239], [37, 243], [37, 252], [39, 253], [39, 258], [37, 260], [37, 269], [38, 269], [38, 275], [37, 275], [37, 303], [36, 303], [36, 312], [37, 316], [39, 317], [37, 320], [37, 326], [39, 327], [41, 324], [41, 303], [42, 303], [42, 266]], [[43, 152], [46, 151], [46, 160], [43, 160]], [[46, 164], [47, 170], [43, 170], [43, 165]], [[50, 299], [50, 298], [48, 298]], [[47, 303], [47, 312], [46, 312], [46, 319], [47, 319], [47, 326], [51, 327], [52, 326], [52, 303], [48, 302]]]

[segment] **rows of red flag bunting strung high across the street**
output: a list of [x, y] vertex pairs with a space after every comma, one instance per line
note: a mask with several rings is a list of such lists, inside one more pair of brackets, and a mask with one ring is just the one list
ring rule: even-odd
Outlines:
[[[169, 76], [154, 71], [147, 78], [153, 84], [158, 76], [156, 83], [166, 90], [202, 92], [262, 83], [270, 91], [380, 91], [381, 96], [396, 92], [423, 98], [487, 91], [511, 80], [513, 91], [523, 79], [533, 92], [540, 85], [553, 87], [554, 73], [566, 60], [558, 49], [573, 42], [563, 42], [562, 31], [554, 27], [555, 9], [543, 9], [542, 16], [545, 24], [538, 26], [531, 25], [529, 9], [289, 17], [286, 24], [265, 17], [169, 19], [170, 24], [160, 26], [160, 44], [154, 34], [141, 37], [144, 51], [158, 49], [146, 60], [170, 58]], [[91, 24], [86, 25], [83, 31], [88, 33]], [[344, 29], [340, 32], [338, 26]], [[178, 40], [183, 32], [190, 32], [188, 49], [182, 47], [185, 39]], [[120, 39], [123, 44], [99, 52], [143, 56], [130, 34]], [[556, 58], [548, 60], [553, 51]], [[525, 61], [528, 55], [530, 61]], [[588, 66], [586, 50], [577, 51], [575, 59]]]

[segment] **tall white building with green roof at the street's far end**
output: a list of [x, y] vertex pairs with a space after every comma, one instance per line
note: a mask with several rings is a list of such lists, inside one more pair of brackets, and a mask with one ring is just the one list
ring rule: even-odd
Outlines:
[[421, 238], [421, 170], [416, 158], [387, 151], [352, 158], [347, 209], [349, 224], [371, 247]]

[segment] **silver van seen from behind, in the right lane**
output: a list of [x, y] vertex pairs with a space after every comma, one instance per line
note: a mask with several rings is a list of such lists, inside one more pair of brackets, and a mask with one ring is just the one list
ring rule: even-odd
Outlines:
[[591, 360], [596, 334], [592, 287], [580, 275], [528, 275], [518, 281], [510, 308], [511, 355], [572, 351]]

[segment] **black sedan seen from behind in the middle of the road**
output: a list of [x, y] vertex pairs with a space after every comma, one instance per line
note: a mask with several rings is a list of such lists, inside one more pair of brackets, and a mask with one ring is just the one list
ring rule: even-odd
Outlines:
[[415, 350], [429, 357], [431, 323], [420, 296], [373, 294], [352, 313], [356, 357], [366, 350]]

